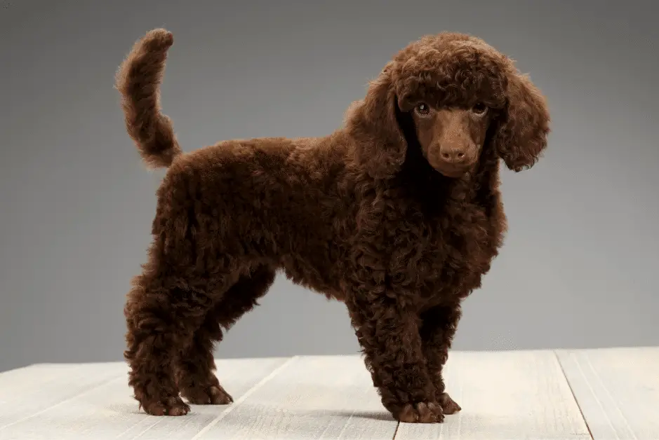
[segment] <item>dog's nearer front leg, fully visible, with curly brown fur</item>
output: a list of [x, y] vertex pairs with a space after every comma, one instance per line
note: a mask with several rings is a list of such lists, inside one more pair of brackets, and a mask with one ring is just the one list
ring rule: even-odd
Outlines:
[[373, 385], [401, 422], [444, 420], [428, 373], [418, 315], [384, 293], [354, 292], [346, 299]]

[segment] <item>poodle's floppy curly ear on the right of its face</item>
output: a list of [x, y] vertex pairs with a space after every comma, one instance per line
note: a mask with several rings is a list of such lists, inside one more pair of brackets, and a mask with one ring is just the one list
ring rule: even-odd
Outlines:
[[531, 168], [547, 146], [550, 115], [547, 102], [528, 76], [512, 74], [507, 109], [493, 136], [495, 150], [510, 170]]

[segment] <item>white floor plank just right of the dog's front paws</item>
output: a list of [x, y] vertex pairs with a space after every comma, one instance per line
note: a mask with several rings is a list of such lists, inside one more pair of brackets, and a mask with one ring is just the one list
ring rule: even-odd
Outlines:
[[401, 423], [396, 440], [590, 440], [552, 351], [451, 352], [445, 378], [462, 411]]

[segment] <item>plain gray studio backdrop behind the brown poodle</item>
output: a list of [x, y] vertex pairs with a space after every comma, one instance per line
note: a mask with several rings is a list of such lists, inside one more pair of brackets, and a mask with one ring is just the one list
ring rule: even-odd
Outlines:
[[[652, 1], [3, 1], [0, 370], [117, 361], [154, 191], [114, 72], [153, 27], [175, 35], [163, 104], [185, 150], [325, 135], [409, 41], [470, 32], [548, 97], [544, 160], [504, 172], [500, 257], [454, 348], [659, 343], [659, 76]], [[355, 353], [340, 303], [279, 277], [223, 357]]]

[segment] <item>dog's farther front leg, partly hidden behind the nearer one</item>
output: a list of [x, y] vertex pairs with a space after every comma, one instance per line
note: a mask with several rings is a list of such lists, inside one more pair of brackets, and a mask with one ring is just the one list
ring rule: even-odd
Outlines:
[[460, 303], [437, 305], [421, 314], [420, 334], [423, 354], [431, 379], [437, 388], [437, 400], [444, 414], [457, 413], [461, 409], [446, 392], [442, 372], [461, 316]]

